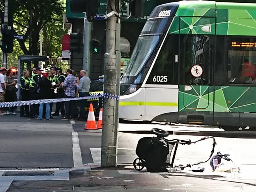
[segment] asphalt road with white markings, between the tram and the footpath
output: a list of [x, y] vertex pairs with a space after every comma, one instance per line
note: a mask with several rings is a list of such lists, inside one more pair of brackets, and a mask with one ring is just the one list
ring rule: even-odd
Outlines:
[[[84, 124], [85, 122], [61, 120], [60, 116], [51, 120], [20, 118], [18, 113], [0, 116], [0, 168], [73, 167], [74, 159], [79, 160], [79, 157], [74, 156], [73, 153], [74, 133], [78, 135], [80, 145], [80, 164], [100, 164], [101, 130], [85, 130]], [[138, 140], [142, 137], [154, 136], [149, 131], [153, 127], [166, 129], [170, 133], [178, 133], [178, 135], [170, 135], [168, 139], [183, 138], [193, 141], [201, 137], [198, 135], [211, 135], [212, 133], [216, 136], [218, 144], [215, 150], [231, 154], [231, 157], [239, 164], [251, 164], [255, 167], [256, 154], [250, 152], [252, 146], [256, 145], [256, 141], [250, 139], [256, 138], [255, 132], [249, 132], [250, 138], [246, 138], [248, 132], [243, 131], [233, 134], [233, 132], [204, 126], [169, 126], [166, 124], [120, 124], [119, 164], [133, 163], [137, 157], [135, 148]], [[186, 130], [194, 131], [197, 135], [194, 132], [191, 136], [182, 134], [185, 132], [189, 135]], [[232, 134], [234, 138], [227, 138]], [[176, 162], [186, 164], [205, 160], [210, 154], [211, 146], [210, 140], [191, 146], [180, 146]]]

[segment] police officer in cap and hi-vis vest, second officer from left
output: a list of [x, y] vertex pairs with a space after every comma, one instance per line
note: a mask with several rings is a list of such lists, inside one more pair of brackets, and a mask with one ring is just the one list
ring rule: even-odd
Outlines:
[[[38, 99], [38, 89], [39, 89], [39, 81], [41, 78], [41, 68], [36, 68], [36, 73], [30, 78], [30, 99], [37, 100]], [[30, 118], [37, 118], [36, 114], [38, 113], [39, 105], [30, 105]]]

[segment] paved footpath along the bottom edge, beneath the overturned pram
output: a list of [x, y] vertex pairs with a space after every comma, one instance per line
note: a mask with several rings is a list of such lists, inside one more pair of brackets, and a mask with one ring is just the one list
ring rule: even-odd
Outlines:
[[0, 192], [256, 191], [256, 179], [247, 180], [241, 173], [232, 179], [230, 173], [196, 173], [190, 168], [180, 173], [150, 173], [136, 171], [132, 165], [101, 168], [86, 164], [62, 170], [8, 170], [0, 175]]

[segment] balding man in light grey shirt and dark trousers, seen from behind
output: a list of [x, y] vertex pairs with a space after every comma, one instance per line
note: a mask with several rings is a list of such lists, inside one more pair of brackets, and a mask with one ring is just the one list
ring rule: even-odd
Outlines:
[[[90, 91], [91, 80], [86, 76], [85, 70], [80, 70], [80, 76], [82, 78], [78, 83], [79, 97], [90, 96], [89, 91]], [[79, 102], [80, 116], [78, 120], [86, 120], [86, 111], [85, 111], [86, 105], [88, 105], [87, 100], [80, 100]]]

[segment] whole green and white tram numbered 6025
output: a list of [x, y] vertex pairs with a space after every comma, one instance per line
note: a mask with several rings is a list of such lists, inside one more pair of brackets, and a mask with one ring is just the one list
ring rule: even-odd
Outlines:
[[255, 129], [255, 65], [256, 4], [157, 6], [121, 79], [120, 118]]

